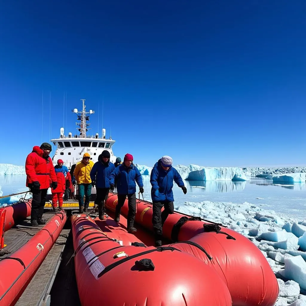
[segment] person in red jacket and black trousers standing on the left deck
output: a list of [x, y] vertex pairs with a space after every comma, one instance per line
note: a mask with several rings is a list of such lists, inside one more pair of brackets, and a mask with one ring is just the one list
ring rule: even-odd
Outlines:
[[46, 224], [43, 220], [43, 208], [47, 200], [47, 191], [50, 187], [57, 187], [57, 179], [52, 159], [49, 154], [52, 147], [44, 142], [40, 147], [33, 147], [33, 151], [25, 161], [25, 173], [27, 174], [26, 186], [33, 194], [31, 209], [31, 225], [38, 226]]

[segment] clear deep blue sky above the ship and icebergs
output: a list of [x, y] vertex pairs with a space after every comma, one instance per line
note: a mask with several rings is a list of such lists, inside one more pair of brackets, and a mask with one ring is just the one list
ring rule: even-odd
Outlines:
[[67, 92], [64, 128], [86, 99], [101, 133], [104, 99], [114, 154], [135, 163], [306, 164], [305, 13], [303, 0], [4, 1], [0, 163], [59, 136]]

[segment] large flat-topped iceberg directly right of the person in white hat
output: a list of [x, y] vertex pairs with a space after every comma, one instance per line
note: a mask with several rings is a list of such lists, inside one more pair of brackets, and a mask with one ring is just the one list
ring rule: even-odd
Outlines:
[[248, 181], [242, 168], [238, 167], [203, 167], [189, 172], [186, 177], [191, 181]]

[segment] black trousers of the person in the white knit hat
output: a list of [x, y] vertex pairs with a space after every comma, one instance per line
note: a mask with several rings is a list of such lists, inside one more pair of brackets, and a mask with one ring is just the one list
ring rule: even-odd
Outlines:
[[[162, 207], [165, 209], [162, 211]], [[162, 226], [164, 225], [169, 214], [173, 214], [173, 201], [153, 202], [152, 223], [155, 234], [162, 235]]]

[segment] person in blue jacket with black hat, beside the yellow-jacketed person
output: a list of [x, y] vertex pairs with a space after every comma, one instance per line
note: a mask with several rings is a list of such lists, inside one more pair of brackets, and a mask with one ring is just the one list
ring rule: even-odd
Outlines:
[[104, 219], [105, 214], [105, 201], [110, 191], [110, 175], [114, 172], [115, 166], [110, 162], [110, 152], [104, 150], [98, 157], [91, 171], [91, 185], [96, 186], [96, 199], [95, 204], [98, 204], [99, 219]]

